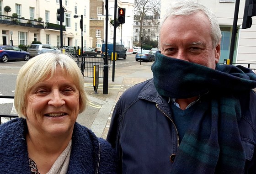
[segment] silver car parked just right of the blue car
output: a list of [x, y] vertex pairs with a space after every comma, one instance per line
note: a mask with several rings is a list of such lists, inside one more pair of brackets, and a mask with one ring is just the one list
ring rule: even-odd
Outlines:
[[38, 54], [45, 53], [48, 51], [60, 52], [60, 50], [54, 48], [52, 45], [49, 44], [32, 44], [27, 48], [27, 52], [30, 53], [30, 57], [34, 57]]

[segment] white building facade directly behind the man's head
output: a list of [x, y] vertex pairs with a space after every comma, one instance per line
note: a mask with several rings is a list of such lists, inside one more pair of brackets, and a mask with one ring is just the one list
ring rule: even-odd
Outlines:
[[[166, 8], [172, 0], [161, 1], [161, 18], [165, 15]], [[222, 33], [221, 58], [229, 59], [229, 49], [233, 30], [235, 13], [235, 0], [195, 0], [212, 10], [218, 18]], [[240, 0], [237, 35], [235, 38], [235, 51], [233, 63], [256, 63], [256, 16], [252, 17], [252, 26], [242, 29], [245, 0]], [[171, 31], [170, 31], [171, 32]]]

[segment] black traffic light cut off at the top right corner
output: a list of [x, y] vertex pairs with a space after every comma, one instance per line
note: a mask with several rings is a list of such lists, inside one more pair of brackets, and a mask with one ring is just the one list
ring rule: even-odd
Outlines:
[[256, 16], [256, 0], [245, 0], [242, 28], [251, 28], [252, 16]]

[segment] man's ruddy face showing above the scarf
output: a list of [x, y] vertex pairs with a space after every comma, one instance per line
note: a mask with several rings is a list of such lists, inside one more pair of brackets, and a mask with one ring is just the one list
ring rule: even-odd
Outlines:
[[215, 69], [220, 42], [213, 48], [210, 21], [203, 12], [167, 18], [160, 31], [163, 55]]

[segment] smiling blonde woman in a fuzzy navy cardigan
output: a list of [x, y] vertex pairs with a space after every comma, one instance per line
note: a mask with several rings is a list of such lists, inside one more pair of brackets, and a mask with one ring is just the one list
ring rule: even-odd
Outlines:
[[115, 173], [110, 144], [76, 122], [87, 102], [83, 76], [67, 54], [29, 60], [16, 79], [21, 118], [0, 126], [0, 173]]

